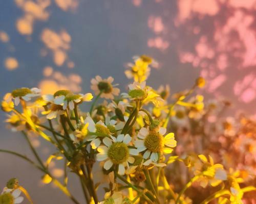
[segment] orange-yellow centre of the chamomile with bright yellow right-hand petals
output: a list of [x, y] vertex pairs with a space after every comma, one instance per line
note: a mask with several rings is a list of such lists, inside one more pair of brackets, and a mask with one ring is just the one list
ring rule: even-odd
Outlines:
[[145, 147], [151, 152], [162, 152], [163, 151], [163, 136], [158, 132], [151, 131], [144, 140]]

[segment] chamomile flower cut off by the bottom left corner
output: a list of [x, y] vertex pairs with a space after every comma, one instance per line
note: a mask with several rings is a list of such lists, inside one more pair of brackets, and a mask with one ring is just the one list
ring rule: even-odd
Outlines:
[[24, 197], [19, 196], [22, 191], [19, 189], [8, 189], [4, 188], [2, 194], [0, 195], [0, 203], [7, 204], [18, 204], [24, 200]]

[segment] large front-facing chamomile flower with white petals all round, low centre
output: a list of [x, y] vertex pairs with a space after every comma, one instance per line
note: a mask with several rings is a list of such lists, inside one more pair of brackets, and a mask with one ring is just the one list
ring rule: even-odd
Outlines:
[[118, 173], [123, 175], [125, 167], [129, 167], [129, 163], [134, 163], [135, 159], [130, 155], [138, 155], [137, 149], [130, 148], [128, 144], [132, 138], [129, 134], [118, 135], [117, 138], [111, 136], [103, 138], [103, 144], [97, 148], [98, 161], [105, 161], [103, 168], [109, 170], [113, 165], [118, 167]]

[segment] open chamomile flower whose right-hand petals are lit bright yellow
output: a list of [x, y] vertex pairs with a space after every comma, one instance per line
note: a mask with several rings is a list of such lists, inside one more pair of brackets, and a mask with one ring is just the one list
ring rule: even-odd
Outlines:
[[135, 146], [139, 152], [144, 151], [143, 158], [150, 158], [153, 162], [159, 160], [159, 155], [170, 154], [173, 147], [176, 147], [176, 140], [173, 133], [166, 133], [164, 127], [160, 127], [159, 131], [150, 131], [142, 127], [138, 133], [138, 139], [135, 141]]

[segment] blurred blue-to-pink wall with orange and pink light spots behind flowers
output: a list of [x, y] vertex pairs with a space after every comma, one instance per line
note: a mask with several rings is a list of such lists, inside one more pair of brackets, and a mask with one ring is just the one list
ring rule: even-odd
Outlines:
[[[201, 75], [205, 98], [232, 102], [256, 114], [256, 0], [9, 0], [0, 1], [0, 96], [19, 87], [90, 91], [90, 80], [115, 78], [125, 90], [124, 70], [135, 55], [159, 62], [148, 85], [172, 93]], [[6, 129], [0, 113], [0, 148], [32, 157], [26, 141]], [[35, 140], [41, 156], [53, 149]], [[70, 203], [25, 161], [0, 154], [0, 186], [17, 177], [34, 203]], [[56, 176], [63, 172], [52, 166]], [[71, 180], [72, 174], [71, 174]], [[71, 181], [70, 180], [70, 181]], [[71, 192], [82, 199], [78, 181]], [[79, 190], [77, 190], [79, 189]], [[25, 202], [26, 203], [26, 202]]]

